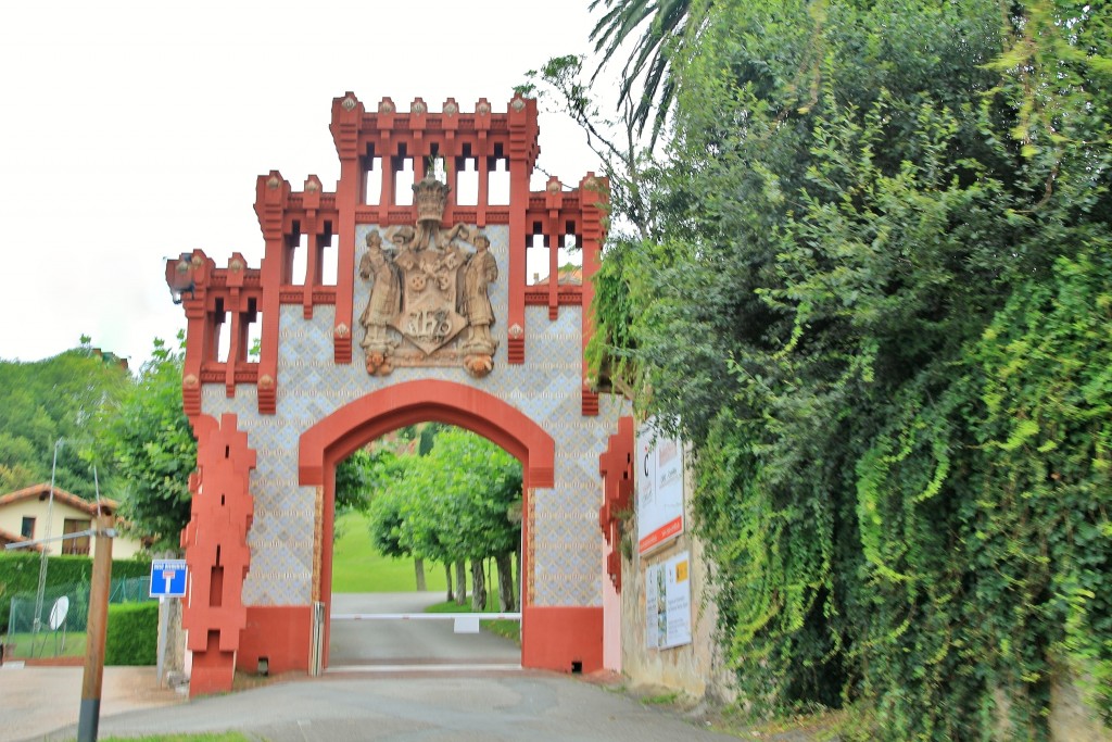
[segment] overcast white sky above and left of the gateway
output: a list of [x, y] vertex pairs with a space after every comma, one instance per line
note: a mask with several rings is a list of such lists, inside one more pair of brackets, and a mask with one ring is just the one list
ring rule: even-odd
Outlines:
[[[588, 0], [38, 0], [0, 11], [0, 358], [78, 345], [149, 356], [185, 326], [163, 260], [201, 248], [258, 267], [256, 176], [335, 188], [331, 100], [439, 110], [587, 50]], [[539, 165], [598, 169], [540, 120]]]

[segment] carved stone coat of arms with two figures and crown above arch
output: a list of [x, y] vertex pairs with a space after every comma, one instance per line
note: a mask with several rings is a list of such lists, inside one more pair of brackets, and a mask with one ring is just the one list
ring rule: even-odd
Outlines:
[[414, 186], [416, 229], [388, 228], [388, 246], [377, 229], [367, 234], [359, 275], [373, 286], [359, 321], [369, 374], [430, 365], [437, 354], [441, 363], [461, 358], [476, 378], [494, 368], [497, 342], [490, 335], [488, 291], [498, 279], [498, 265], [478, 228], [460, 222], [440, 229], [447, 196], [447, 185], [425, 178]]

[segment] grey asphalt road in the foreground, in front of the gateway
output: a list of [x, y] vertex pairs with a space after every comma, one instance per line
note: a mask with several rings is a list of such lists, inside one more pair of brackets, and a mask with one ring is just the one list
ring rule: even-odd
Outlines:
[[[269, 742], [732, 740], [567, 675], [350, 674], [102, 718], [101, 736], [240, 730]], [[72, 740], [69, 728], [46, 740]]]

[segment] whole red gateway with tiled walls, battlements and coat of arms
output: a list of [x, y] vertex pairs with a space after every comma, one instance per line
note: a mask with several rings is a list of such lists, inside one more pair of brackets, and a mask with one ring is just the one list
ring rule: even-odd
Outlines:
[[[523, 464], [522, 664], [602, 667], [633, 451], [627, 407], [594, 389], [583, 356], [605, 182], [529, 189], [539, 130], [522, 97], [505, 112], [420, 98], [401, 112], [349, 92], [330, 130], [335, 191], [258, 178], [260, 267], [200, 250], [167, 264], [198, 438], [181, 537], [190, 694], [230, 690], [260, 657], [327, 666], [336, 464], [428, 421]], [[562, 274], [573, 241], [582, 273]], [[547, 279], [528, 280], [534, 254]]]

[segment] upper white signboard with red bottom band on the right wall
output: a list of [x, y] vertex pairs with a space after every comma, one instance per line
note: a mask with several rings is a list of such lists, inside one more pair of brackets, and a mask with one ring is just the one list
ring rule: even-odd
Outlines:
[[637, 436], [637, 552], [644, 554], [684, 532], [683, 446], [649, 421]]

